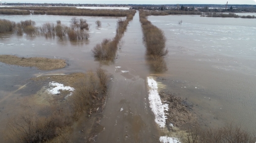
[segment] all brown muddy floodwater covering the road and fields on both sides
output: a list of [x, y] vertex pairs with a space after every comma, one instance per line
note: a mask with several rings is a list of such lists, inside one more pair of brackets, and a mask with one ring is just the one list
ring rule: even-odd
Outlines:
[[[40, 26], [56, 20], [69, 25], [72, 17], [0, 15], [0, 18], [15, 22], [31, 19]], [[54, 71], [0, 63], [0, 131], [10, 116], [19, 113], [24, 98], [40, 89], [24, 86], [31, 77], [101, 67], [113, 76], [100, 123], [103, 129], [97, 131], [95, 141], [159, 142], [159, 136], [164, 133], [158, 129], [148, 106], [146, 79], [153, 72], [146, 62], [138, 12], [128, 25], [115, 63], [110, 65], [94, 61], [91, 49], [104, 38], [115, 36], [118, 19], [78, 18], [86, 19], [90, 25], [87, 41], [74, 43], [42, 36], [0, 35], [0, 54], [63, 58], [69, 63], [66, 68]], [[96, 20], [102, 22], [101, 28], [94, 24]], [[158, 81], [166, 85], [164, 90], [193, 103], [201, 125], [219, 126], [233, 121], [253, 131], [256, 127], [255, 20], [199, 16], [150, 16], [148, 20], [162, 29], [167, 38], [168, 71], [157, 75], [162, 77]], [[178, 25], [180, 20], [182, 25]]]

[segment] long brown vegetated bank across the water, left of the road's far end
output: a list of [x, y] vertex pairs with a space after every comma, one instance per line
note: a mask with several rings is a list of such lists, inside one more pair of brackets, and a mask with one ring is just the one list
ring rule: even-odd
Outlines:
[[132, 11], [132, 10], [91, 10], [91, 9], [77, 9], [77, 8], [70, 8], [70, 7], [4, 7], [0, 9], [2, 9], [1, 11], [9, 11], [10, 9], [12, 9], [12, 11], [27, 10], [28, 12], [31, 11], [31, 14], [34, 14], [34, 15], [46, 14], [46, 15], [61, 15], [61, 16], [95, 16], [95, 17], [126, 17]]

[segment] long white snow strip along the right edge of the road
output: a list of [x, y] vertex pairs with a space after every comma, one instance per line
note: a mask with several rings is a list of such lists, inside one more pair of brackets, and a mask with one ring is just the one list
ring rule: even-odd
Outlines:
[[148, 99], [149, 107], [155, 114], [155, 121], [159, 127], [164, 128], [166, 124], [165, 110], [168, 110], [168, 104], [162, 104], [160, 95], [158, 94], [158, 83], [152, 77], [147, 77], [149, 90]]

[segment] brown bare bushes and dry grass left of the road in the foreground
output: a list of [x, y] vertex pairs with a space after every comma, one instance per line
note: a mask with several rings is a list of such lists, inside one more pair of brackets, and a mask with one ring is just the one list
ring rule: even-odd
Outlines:
[[[55, 77], [59, 79], [60, 76]], [[66, 83], [69, 83], [69, 79], [75, 81], [70, 83], [75, 88], [73, 95], [63, 102], [49, 100], [49, 106], [44, 107], [40, 115], [30, 105], [23, 105], [24, 112], [19, 117], [9, 119], [5, 131], [7, 141], [70, 142], [74, 122], [81, 115], [87, 114], [88, 117], [103, 110], [109, 80], [106, 71], [97, 69], [96, 72], [63, 76]], [[48, 80], [48, 77], [33, 80]]]

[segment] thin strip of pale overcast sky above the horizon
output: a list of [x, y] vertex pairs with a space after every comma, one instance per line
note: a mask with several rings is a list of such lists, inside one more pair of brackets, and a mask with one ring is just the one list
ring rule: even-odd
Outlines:
[[64, 0], [0, 0], [2, 3], [66, 3], [66, 4], [246, 4], [246, 5], [256, 5], [256, 0], [170, 0], [170, 1], [64, 1]]

